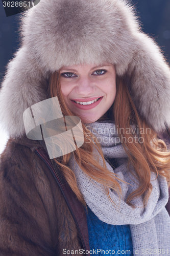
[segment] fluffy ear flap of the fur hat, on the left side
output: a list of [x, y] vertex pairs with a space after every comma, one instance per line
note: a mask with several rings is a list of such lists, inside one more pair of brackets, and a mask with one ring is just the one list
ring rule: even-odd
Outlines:
[[36, 63], [29, 50], [21, 47], [8, 64], [0, 94], [0, 119], [11, 137], [25, 133], [23, 112], [46, 97], [47, 74]]

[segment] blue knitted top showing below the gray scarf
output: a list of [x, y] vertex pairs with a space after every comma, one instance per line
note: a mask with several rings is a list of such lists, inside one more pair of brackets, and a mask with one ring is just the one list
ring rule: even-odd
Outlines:
[[87, 209], [86, 217], [91, 255], [133, 255], [130, 226], [107, 224], [99, 220], [88, 206]]

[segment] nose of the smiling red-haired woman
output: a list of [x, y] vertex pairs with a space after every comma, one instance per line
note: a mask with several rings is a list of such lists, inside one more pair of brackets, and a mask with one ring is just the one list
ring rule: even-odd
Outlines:
[[79, 79], [78, 84], [76, 86], [76, 93], [81, 96], [89, 96], [92, 95], [95, 91], [94, 82], [90, 80], [88, 77], [82, 77]]

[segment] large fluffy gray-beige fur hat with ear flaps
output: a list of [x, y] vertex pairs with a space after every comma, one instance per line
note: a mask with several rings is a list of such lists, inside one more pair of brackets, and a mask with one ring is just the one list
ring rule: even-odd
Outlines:
[[107, 61], [128, 77], [140, 116], [156, 132], [170, 126], [170, 71], [124, 0], [41, 0], [22, 17], [22, 44], [0, 92], [11, 137], [25, 133], [23, 112], [46, 98], [48, 76], [62, 66]]

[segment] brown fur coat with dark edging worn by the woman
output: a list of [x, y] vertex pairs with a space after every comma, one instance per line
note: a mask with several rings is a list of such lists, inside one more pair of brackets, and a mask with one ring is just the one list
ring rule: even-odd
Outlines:
[[[1, 155], [0, 255], [3, 256], [64, 255], [63, 249], [89, 246], [87, 228], [84, 242], [78, 231], [83, 230], [81, 218], [79, 225], [76, 224], [50, 168], [37, 155], [37, 148], [44, 153], [37, 141], [27, 137], [10, 139]], [[78, 200], [76, 204], [80, 205]]]

